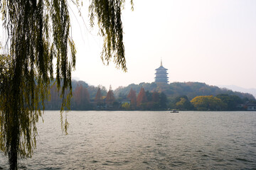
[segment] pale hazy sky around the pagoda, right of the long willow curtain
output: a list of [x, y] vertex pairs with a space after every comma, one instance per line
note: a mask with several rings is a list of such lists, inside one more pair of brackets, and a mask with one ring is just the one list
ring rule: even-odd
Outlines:
[[122, 13], [128, 72], [102, 64], [102, 38], [82, 8], [85, 23], [73, 17], [73, 77], [107, 89], [151, 83], [162, 58], [170, 82], [256, 87], [255, 0], [134, 0], [130, 8]]

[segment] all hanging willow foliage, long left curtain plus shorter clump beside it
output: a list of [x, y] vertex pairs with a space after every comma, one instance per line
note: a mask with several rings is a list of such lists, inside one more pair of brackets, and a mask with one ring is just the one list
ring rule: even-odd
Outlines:
[[[36, 147], [36, 123], [54, 80], [63, 98], [62, 128], [65, 132], [68, 128], [62, 112], [70, 105], [76, 50], [70, 37], [69, 1], [0, 0], [0, 3], [3, 26], [8, 33], [8, 54], [0, 58], [0, 149], [8, 155], [10, 169], [17, 169], [18, 157], [31, 157]], [[70, 3], [80, 6], [79, 1]], [[96, 17], [105, 40], [102, 61], [108, 64], [114, 57], [117, 67], [127, 71], [122, 42], [123, 4], [124, 0], [92, 0], [89, 11], [91, 26]], [[57, 60], [55, 78], [53, 60]]]

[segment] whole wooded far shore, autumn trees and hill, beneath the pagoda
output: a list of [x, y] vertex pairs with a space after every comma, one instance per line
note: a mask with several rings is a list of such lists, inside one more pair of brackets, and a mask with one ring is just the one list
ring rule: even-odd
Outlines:
[[[171, 84], [141, 83], [120, 86], [107, 91], [105, 86], [90, 86], [85, 81], [72, 81], [73, 111], [247, 111], [247, 105], [256, 104], [252, 94], [220, 89], [199, 82]], [[46, 110], [59, 110], [62, 98], [55, 84], [50, 89]]]

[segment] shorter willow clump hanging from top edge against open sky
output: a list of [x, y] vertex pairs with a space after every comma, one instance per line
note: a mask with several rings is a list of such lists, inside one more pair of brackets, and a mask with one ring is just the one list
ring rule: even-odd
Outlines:
[[[90, 24], [94, 26], [95, 16], [97, 16], [100, 35], [104, 37], [104, 44], [101, 59], [109, 64], [114, 56], [114, 63], [118, 68], [127, 72], [126, 60], [124, 57], [123, 30], [121, 20], [121, 10], [124, 0], [101, 1], [92, 0], [89, 6]], [[133, 1], [131, 1], [133, 6]], [[133, 7], [132, 7], [133, 9]]]

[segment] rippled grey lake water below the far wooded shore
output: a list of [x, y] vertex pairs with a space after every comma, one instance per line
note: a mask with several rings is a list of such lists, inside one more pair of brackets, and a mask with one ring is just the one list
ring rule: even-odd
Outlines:
[[69, 135], [43, 118], [20, 169], [256, 169], [256, 112], [71, 111]]

